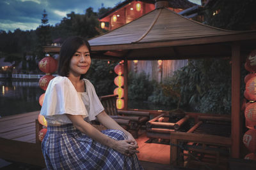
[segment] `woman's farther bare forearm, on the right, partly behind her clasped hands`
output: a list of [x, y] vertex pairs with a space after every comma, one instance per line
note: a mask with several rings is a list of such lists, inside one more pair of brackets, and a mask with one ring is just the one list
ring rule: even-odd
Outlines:
[[116, 121], [113, 120], [113, 118], [109, 117], [109, 115], [105, 111], [102, 111], [101, 113], [99, 113], [99, 115], [97, 115], [97, 118], [99, 122], [105, 127], [107, 127], [108, 129], [116, 129], [116, 130], [123, 131], [125, 135], [128, 137], [128, 139], [132, 140], [131, 144], [136, 146], [136, 148], [138, 148], [138, 144], [136, 140], [133, 138], [133, 136], [131, 135], [131, 133], [125, 131], [125, 129], [122, 128], [120, 125], [118, 125]]

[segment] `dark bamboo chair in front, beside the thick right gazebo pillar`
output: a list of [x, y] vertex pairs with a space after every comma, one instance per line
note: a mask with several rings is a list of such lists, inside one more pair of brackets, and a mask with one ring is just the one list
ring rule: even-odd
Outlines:
[[170, 164], [227, 169], [230, 154], [230, 118], [199, 116], [187, 132], [171, 134]]

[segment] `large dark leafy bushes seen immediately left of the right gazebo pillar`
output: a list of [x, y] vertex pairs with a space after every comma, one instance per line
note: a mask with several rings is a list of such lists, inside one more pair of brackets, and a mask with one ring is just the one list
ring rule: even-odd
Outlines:
[[[163, 83], [165, 94], [187, 111], [230, 113], [231, 66], [225, 59], [190, 60]], [[180, 96], [180, 98], [179, 98]]]

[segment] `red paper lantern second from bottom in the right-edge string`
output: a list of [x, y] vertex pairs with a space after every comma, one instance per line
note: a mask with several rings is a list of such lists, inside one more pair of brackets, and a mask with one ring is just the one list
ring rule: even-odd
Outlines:
[[256, 131], [249, 129], [244, 133], [243, 143], [250, 152], [256, 152]]

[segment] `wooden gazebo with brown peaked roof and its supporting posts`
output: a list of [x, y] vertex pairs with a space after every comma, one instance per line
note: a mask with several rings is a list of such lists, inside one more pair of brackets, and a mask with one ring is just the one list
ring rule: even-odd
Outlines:
[[[227, 31], [195, 22], [165, 8], [158, 1], [156, 10], [118, 29], [92, 38], [92, 57], [124, 60], [124, 99], [127, 109], [127, 60], [179, 60], [231, 57], [232, 113], [231, 157], [241, 157], [242, 115], [240, 113], [241, 60], [256, 48], [256, 31]], [[45, 46], [45, 52], [60, 47]]]

